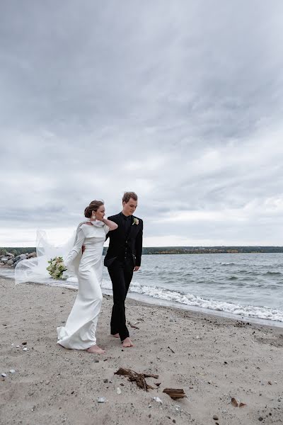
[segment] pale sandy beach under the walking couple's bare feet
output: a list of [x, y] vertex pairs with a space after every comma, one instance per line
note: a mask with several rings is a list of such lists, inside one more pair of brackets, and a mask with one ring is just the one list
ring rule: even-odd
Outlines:
[[[1, 425], [283, 423], [282, 328], [127, 300], [139, 329], [130, 328], [134, 348], [122, 349], [105, 295], [98, 356], [56, 344], [76, 290], [1, 278], [0, 293]], [[119, 368], [158, 375], [146, 378], [154, 389], [115, 375]], [[187, 398], [171, 399], [168, 387]]]

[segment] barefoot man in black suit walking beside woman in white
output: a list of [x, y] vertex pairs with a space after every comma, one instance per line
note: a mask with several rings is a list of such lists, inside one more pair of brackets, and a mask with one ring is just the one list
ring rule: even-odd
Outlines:
[[120, 337], [123, 347], [132, 347], [126, 325], [125, 299], [133, 272], [138, 271], [141, 265], [143, 223], [133, 216], [137, 208], [136, 193], [125, 192], [122, 205], [122, 212], [108, 217], [108, 220], [117, 223], [118, 228], [107, 235], [109, 247], [104, 265], [108, 267], [113, 290], [111, 334]]

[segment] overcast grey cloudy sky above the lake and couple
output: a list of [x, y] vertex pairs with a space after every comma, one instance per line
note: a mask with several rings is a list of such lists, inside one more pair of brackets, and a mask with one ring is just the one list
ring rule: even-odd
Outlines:
[[282, 0], [0, 3], [0, 246], [136, 191], [144, 246], [283, 245]]

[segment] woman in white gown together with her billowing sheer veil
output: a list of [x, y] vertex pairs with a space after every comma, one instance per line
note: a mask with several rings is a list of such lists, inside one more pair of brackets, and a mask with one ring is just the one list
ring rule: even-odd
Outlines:
[[[47, 261], [62, 256], [67, 276], [76, 275], [79, 290], [74, 306], [64, 327], [57, 328], [57, 343], [64, 348], [105, 353], [96, 345], [96, 325], [100, 312], [103, 276], [103, 244], [105, 235], [117, 229], [117, 224], [104, 218], [105, 207], [100, 200], [93, 200], [84, 210], [88, 220], [79, 224], [75, 237], [67, 244], [53, 246], [42, 230], [37, 231], [37, 257], [20, 261], [15, 268], [16, 283], [46, 283]], [[82, 254], [82, 246], [85, 247]], [[68, 282], [68, 280], [67, 280]], [[50, 281], [54, 284], [54, 281]]]

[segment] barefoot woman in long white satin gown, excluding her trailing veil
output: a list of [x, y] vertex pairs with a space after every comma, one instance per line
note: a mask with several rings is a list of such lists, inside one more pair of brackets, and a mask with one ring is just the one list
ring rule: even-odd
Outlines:
[[65, 326], [57, 328], [57, 343], [65, 348], [101, 354], [105, 351], [96, 345], [96, 325], [103, 299], [100, 288], [103, 244], [105, 235], [118, 226], [104, 218], [105, 207], [100, 200], [91, 201], [84, 215], [89, 220], [79, 225], [73, 249], [64, 259], [67, 270], [74, 271], [78, 277], [78, 295]]

